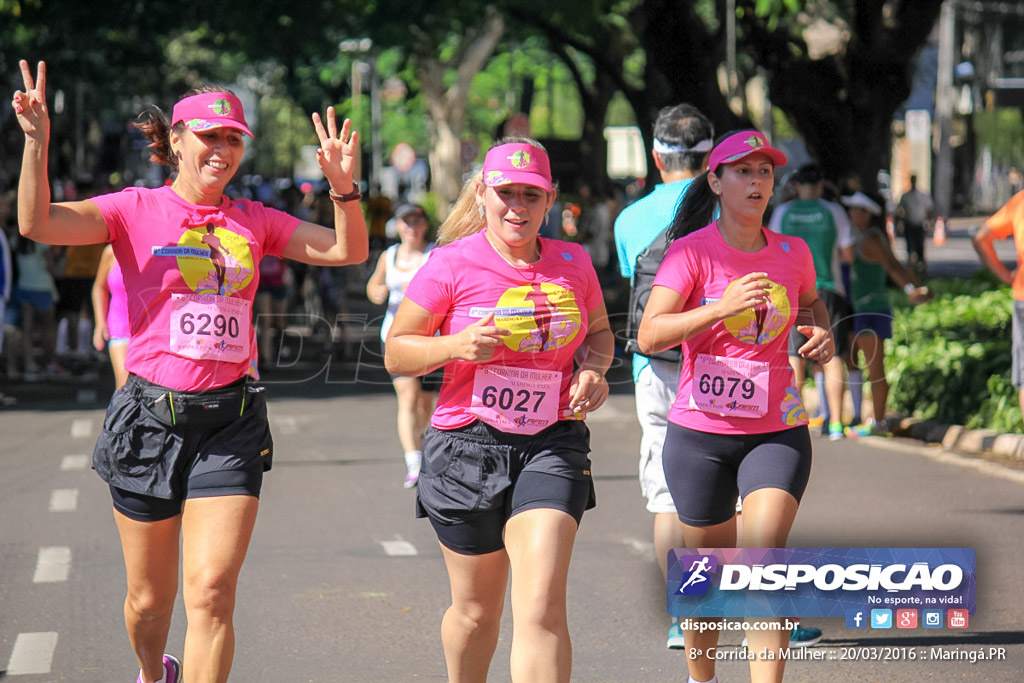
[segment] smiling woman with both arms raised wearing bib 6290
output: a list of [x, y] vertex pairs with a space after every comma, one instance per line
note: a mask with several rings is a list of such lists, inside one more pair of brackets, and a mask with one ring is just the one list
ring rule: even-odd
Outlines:
[[[128, 579], [125, 623], [138, 681], [226, 681], [234, 652], [239, 571], [270, 469], [272, 440], [252, 326], [258, 264], [273, 254], [316, 265], [367, 258], [352, 178], [356, 135], [333, 109], [317, 161], [331, 183], [335, 228], [300, 221], [224, 188], [252, 136], [232, 93], [199, 88], [170, 118], [152, 108], [136, 124], [173, 182], [82, 202], [50, 202], [46, 67], [11, 102], [25, 132], [18, 186], [22, 234], [56, 245], [110, 242], [131, 325], [125, 365], [93, 453], [110, 484]], [[179, 543], [183, 552], [179, 557]], [[183, 665], [163, 655], [183, 568], [188, 617]]]

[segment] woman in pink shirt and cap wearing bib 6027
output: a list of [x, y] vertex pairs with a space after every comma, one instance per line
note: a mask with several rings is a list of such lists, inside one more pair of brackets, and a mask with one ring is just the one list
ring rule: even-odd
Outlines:
[[614, 342], [587, 252], [538, 237], [554, 199], [536, 141], [492, 147], [385, 346], [395, 375], [444, 368], [417, 516], [433, 525], [452, 585], [441, 623], [450, 681], [486, 679], [510, 569], [512, 680], [571, 673], [568, 566], [594, 506], [582, 420], [608, 396]]

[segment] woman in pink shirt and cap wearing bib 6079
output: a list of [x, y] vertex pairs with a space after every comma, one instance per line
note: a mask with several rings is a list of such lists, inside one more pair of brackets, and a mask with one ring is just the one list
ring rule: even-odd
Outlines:
[[[835, 353], [807, 245], [767, 230], [775, 168], [786, 163], [753, 130], [727, 135], [693, 181], [669, 228], [638, 343], [644, 353], [682, 344], [663, 464], [687, 548], [781, 548], [811, 469], [811, 441], [786, 355], [790, 329], [804, 357]], [[712, 222], [715, 209], [721, 214]], [[718, 631], [684, 631], [687, 650], [714, 652]], [[751, 679], [778, 681], [788, 631], [750, 631]], [[716, 681], [709, 654], [688, 657], [690, 681]]]

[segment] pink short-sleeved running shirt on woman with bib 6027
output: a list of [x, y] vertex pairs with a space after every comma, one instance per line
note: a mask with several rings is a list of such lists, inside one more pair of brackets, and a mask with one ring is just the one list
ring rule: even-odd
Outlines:
[[444, 315], [440, 334], [458, 334], [495, 312], [512, 332], [489, 364], [453, 360], [430, 424], [456, 429], [476, 420], [469, 412], [476, 370], [482, 365], [561, 372], [558, 415], [568, 410], [572, 354], [587, 337], [589, 312], [603, 295], [590, 256], [580, 245], [538, 238], [541, 260], [515, 267], [495, 251], [484, 230], [430, 252], [406, 298]]

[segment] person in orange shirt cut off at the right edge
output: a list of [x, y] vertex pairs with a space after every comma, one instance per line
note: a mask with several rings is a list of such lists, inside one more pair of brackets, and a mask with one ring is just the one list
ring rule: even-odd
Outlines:
[[[1012, 272], [995, 255], [992, 246], [996, 240], [1006, 240], [1011, 234], [1017, 248], [1017, 267]], [[1012, 379], [1014, 386], [1020, 390], [1019, 400], [1024, 412], [1024, 272], [1020, 268], [1024, 261], [1024, 191], [1014, 195], [1006, 206], [985, 221], [974, 236], [974, 249], [981, 262], [1014, 289]]]

